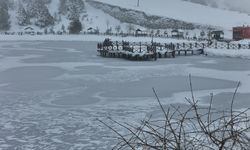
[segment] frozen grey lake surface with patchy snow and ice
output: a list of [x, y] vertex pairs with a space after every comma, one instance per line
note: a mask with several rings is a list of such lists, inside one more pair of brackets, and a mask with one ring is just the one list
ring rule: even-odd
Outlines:
[[250, 107], [250, 60], [206, 56], [134, 62], [96, 55], [95, 42], [0, 42], [0, 149], [108, 150], [96, 119], [137, 121], [195, 96], [235, 109]]

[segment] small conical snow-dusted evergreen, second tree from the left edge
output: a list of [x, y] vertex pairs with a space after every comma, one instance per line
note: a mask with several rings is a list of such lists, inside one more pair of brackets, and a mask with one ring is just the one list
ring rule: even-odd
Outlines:
[[21, 25], [21, 26], [26, 26], [30, 24], [30, 18], [27, 12], [25, 11], [22, 3], [18, 4], [17, 21], [18, 21], [18, 25]]

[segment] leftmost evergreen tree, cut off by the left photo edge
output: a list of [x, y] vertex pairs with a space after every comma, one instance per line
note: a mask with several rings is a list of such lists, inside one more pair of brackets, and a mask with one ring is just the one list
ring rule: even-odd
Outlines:
[[0, 30], [9, 30], [10, 28], [8, 10], [8, 0], [0, 0]]

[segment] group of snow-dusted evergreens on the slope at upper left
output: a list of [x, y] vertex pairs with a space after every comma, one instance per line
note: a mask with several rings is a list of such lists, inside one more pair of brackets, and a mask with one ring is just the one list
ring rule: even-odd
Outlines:
[[79, 20], [85, 10], [83, 0], [59, 0], [58, 13], [51, 14], [48, 8], [52, 0], [0, 0], [0, 31], [11, 28], [10, 10], [16, 10], [19, 26], [35, 25], [40, 28], [53, 26], [61, 21], [61, 16], [70, 20], [70, 33], [79, 33], [82, 24]]

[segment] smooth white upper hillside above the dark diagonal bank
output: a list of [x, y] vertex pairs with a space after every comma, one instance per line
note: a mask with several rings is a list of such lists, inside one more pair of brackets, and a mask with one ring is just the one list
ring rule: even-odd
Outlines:
[[134, 9], [177, 20], [213, 25], [231, 29], [233, 26], [249, 25], [250, 16], [244, 13], [211, 8], [182, 0], [141, 0], [139, 7], [135, 0], [96, 0], [127, 9]]

